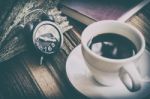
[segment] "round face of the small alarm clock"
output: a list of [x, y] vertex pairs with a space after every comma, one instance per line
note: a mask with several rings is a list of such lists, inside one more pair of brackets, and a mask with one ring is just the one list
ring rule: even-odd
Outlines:
[[35, 47], [44, 54], [53, 54], [61, 45], [60, 31], [52, 24], [40, 24], [33, 33]]

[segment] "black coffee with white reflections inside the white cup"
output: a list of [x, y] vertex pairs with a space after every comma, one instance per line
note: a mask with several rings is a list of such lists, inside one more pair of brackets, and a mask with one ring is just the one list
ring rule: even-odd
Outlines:
[[137, 53], [136, 46], [128, 38], [115, 33], [99, 34], [88, 46], [96, 54], [111, 59], [124, 59]]

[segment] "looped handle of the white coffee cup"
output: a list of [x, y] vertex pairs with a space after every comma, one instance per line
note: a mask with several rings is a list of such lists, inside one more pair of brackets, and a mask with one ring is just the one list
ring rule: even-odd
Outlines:
[[121, 67], [119, 77], [129, 91], [135, 92], [141, 88], [141, 77], [134, 63]]

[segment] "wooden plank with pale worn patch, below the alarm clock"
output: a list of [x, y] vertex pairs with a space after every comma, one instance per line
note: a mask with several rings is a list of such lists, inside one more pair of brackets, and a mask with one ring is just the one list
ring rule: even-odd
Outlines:
[[24, 53], [20, 57], [21, 63], [25, 65], [32, 80], [47, 99], [64, 99], [52, 72], [45, 65], [40, 65], [39, 60], [40, 57], [32, 52]]

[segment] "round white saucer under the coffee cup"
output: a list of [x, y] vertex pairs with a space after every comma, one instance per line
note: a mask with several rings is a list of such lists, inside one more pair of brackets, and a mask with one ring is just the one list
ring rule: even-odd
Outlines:
[[97, 83], [86, 66], [81, 53], [81, 45], [77, 46], [69, 55], [66, 62], [66, 72], [70, 83], [83, 95], [89, 98], [102, 99], [142, 99], [150, 95], [150, 53], [145, 50], [140, 61], [136, 63], [144, 79], [142, 88], [137, 92], [129, 92], [118, 80], [117, 85], [103, 86]]

